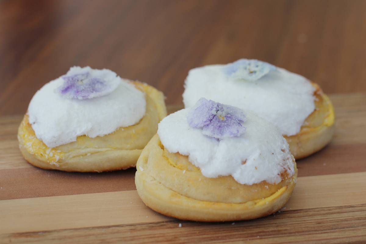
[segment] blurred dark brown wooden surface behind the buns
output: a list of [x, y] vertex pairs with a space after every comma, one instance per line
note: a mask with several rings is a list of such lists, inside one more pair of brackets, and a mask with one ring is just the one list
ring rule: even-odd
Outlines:
[[366, 92], [364, 0], [0, 1], [0, 115], [72, 65], [110, 68], [180, 104], [188, 70], [247, 57]]

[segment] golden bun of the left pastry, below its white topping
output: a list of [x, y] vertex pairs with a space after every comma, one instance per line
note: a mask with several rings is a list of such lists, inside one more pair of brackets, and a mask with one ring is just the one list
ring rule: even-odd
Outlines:
[[18, 129], [24, 158], [39, 168], [64, 171], [102, 172], [134, 167], [167, 110], [162, 92], [146, 83], [132, 83], [146, 94], [146, 113], [137, 124], [96, 138], [78, 136], [76, 142], [51, 149], [36, 138], [26, 114]]

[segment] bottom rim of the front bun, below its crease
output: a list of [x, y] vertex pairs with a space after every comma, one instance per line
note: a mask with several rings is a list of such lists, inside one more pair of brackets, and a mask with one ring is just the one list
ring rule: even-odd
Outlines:
[[[153, 139], [154, 137], [149, 143]], [[202, 222], [237, 221], [264, 217], [280, 210], [290, 199], [296, 185], [297, 169], [295, 168], [296, 173], [291, 177], [290, 183], [264, 199], [245, 203], [222, 203], [189, 198], [165, 187], [150, 176], [146, 166], [150, 154], [149, 143], [137, 161], [135, 176], [137, 192], [146, 206], [169, 217]]]

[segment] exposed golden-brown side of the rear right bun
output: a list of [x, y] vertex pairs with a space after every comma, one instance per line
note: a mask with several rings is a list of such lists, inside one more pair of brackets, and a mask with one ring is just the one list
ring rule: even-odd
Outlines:
[[290, 151], [295, 159], [305, 158], [325, 147], [331, 140], [334, 131], [334, 109], [329, 97], [316, 83], [315, 110], [303, 123], [300, 132], [286, 136]]

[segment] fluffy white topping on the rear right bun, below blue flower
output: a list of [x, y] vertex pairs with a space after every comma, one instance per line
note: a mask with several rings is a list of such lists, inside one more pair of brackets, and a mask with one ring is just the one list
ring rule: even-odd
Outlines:
[[300, 131], [307, 116], [315, 109], [315, 88], [303, 76], [277, 68], [257, 82], [238, 82], [224, 75], [224, 67], [208, 65], [189, 71], [183, 93], [185, 108], [205, 97], [245, 111], [251, 110], [289, 136]]

